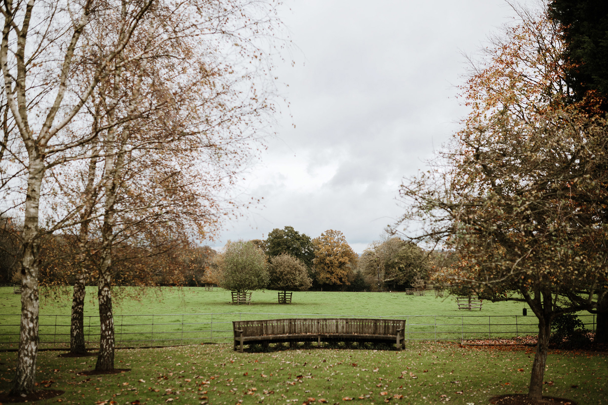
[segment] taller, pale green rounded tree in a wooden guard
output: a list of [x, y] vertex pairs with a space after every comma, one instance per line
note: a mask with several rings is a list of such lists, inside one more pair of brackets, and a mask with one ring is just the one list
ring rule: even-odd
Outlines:
[[221, 255], [219, 286], [244, 292], [266, 288], [266, 255], [250, 241], [228, 241]]

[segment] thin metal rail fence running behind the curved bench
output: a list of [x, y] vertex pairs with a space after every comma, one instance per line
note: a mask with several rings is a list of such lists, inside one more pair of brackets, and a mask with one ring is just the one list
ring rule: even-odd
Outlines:
[[[0, 349], [16, 348], [19, 344], [20, 315], [0, 315]], [[201, 313], [150, 314], [114, 316], [116, 347], [159, 347], [229, 342], [233, 320], [280, 319], [294, 317], [336, 317], [334, 314], [282, 313]], [[534, 316], [350, 316], [358, 318], [405, 319], [407, 341], [469, 341], [476, 339], [520, 339], [538, 333]], [[595, 315], [579, 319], [589, 331], [595, 331]], [[67, 348], [70, 338], [69, 315], [40, 315], [40, 348]], [[85, 316], [85, 339], [88, 348], [97, 347], [99, 317]]]

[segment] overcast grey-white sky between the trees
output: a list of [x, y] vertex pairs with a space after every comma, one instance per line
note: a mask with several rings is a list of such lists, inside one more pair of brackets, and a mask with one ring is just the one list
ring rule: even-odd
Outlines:
[[299, 49], [278, 73], [291, 108], [243, 183], [264, 203], [213, 245], [286, 225], [313, 238], [341, 230], [358, 253], [378, 240], [400, 214], [403, 176], [466, 114], [454, 98], [462, 52], [513, 15], [503, 0], [286, 0], [280, 16]]

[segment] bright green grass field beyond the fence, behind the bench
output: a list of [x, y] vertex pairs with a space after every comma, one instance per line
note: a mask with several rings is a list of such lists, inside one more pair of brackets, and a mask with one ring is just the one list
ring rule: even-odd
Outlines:
[[[58, 290], [56, 290], [58, 291]], [[142, 294], [143, 292], [143, 294]], [[69, 336], [71, 296], [41, 299], [41, 347], [61, 347]], [[88, 288], [85, 333], [96, 347], [95, 288]], [[407, 320], [407, 339], [488, 339], [536, 334], [534, 316], [521, 316], [522, 303], [484, 302], [482, 311], [459, 311], [453, 297], [378, 292], [294, 292], [291, 305], [278, 305], [276, 291], [255, 291], [251, 305], [232, 305], [230, 292], [202, 288], [117, 289], [114, 316], [117, 345], [227, 342], [232, 320], [281, 317], [390, 316]], [[0, 347], [16, 347], [19, 295], [0, 288]], [[528, 311], [531, 314], [531, 311]], [[154, 315], [153, 315], [154, 314]], [[185, 315], [184, 315], [185, 314]], [[582, 316], [593, 330], [593, 316]]]

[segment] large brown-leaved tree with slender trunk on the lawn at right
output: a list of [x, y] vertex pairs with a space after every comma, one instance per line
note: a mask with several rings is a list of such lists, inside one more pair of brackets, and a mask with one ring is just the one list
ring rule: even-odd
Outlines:
[[[471, 113], [432, 167], [401, 187], [412, 240], [457, 255], [453, 291], [526, 302], [539, 320], [530, 376], [541, 400], [553, 320], [608, 291], [606, 123], [567, 105], [563, 44], [547, 11], [518, 10], [463, 87]], [[416, 223], [416, 226], [412, 226]]]

